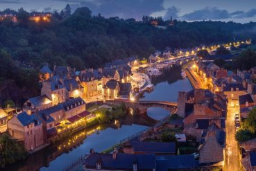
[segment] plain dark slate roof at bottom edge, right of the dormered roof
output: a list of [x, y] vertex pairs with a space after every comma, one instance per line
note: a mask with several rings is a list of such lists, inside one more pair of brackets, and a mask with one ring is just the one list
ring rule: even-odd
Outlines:
[[168, 155], [155, 156], [158, 170], [182, 170], [195, 169], [198, 167], [198, 161], [194, 155]]

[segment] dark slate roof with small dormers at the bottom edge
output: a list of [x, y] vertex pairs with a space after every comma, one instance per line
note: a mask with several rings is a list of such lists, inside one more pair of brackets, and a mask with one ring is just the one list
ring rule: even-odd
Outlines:
[[133, 170], [133, 163], [137, 162], [137, 170], [155, 169], [154, 154], [124, 154], [118, 153], [113, 159], [112, 154], [89, 154], [83, 163], [86, 168], [96, 168], [96, 163], [101, 162], [101, 169], [108, 170]]

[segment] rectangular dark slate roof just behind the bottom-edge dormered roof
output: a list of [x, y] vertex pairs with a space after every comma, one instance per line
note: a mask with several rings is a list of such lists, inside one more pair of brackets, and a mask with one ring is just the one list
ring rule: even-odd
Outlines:
[[145, 153], [176, 153], [176, 143], [159, 143], [159, 142], [141, 142], [132, 141], [130, 145], [133, 147], [134, 152]]

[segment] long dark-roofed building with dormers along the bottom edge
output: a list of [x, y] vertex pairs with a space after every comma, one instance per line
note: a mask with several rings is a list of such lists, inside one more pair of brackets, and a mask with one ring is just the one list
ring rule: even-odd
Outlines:
[[196, 170], [198, 161], [194, 155], [164, 155], [155, 154], [99, 154], [94, 153], [86, 156], [83, 163], [85, 170]]

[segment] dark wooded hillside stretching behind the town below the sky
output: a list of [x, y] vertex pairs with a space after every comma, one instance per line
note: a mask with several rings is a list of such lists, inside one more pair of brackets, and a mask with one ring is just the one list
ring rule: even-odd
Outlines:
[[51, 14], [49, 22], [31, 21], [29, 17], [38, 12], [23, 8], [7, 9], [0, 15], [4, 13], [15, 13], [17, 22], [0, 21], [0, 102], [37, 95], [37, 74], [44, 64], [51, 68], [54, 64], [68, 65], [78, 70], [98, 68], [116, 59], [147, 58], [155, 50], [167, 47], [189, 48], [256, 37], [253, 22], [173, 20], [169, 25], [169, 21], [157, 18], [166, 26], [162, 29], [152, 26], [145, 16], [143, 21], [105, 18], [92, 15], [86, 7], [71, 13], [66, 6]]

